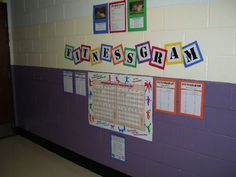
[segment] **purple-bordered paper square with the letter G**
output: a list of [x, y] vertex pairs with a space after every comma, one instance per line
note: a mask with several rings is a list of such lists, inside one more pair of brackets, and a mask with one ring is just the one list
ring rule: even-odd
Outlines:
[[135, 45], [139, 63], [148, 62], [152, 59], [150, 42], [143, 42]]

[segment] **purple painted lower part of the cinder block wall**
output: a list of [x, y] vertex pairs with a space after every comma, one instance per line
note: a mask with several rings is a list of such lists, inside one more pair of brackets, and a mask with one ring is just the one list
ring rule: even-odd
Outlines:
[[236, 84], [205, 83], [204, 119], [153, 114], [153, 142], [126, 136], [111, 159], [111, 132], [88, 124], [87, 97], [63, 92], [63, 70], [12, 66], [17, 126], [140, 177], [235, 177]]

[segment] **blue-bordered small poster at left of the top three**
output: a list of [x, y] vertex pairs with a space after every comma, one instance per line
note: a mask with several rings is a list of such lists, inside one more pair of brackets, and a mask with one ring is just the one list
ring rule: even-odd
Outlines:
[[108, 5], [93, 6], [93, 33], [108, 33]]

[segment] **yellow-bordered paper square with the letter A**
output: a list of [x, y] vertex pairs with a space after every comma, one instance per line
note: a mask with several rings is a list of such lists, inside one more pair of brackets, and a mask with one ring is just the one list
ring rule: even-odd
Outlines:
[[165, 44], [165, 49], [167, 50], [167, 65], [183, 63], [183, 51], [181, 42]]

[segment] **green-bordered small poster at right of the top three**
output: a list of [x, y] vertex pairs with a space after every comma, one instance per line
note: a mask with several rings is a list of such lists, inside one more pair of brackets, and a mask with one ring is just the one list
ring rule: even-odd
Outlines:
[[147, 30], [146, 0], [128, 0], [128, 31]]

